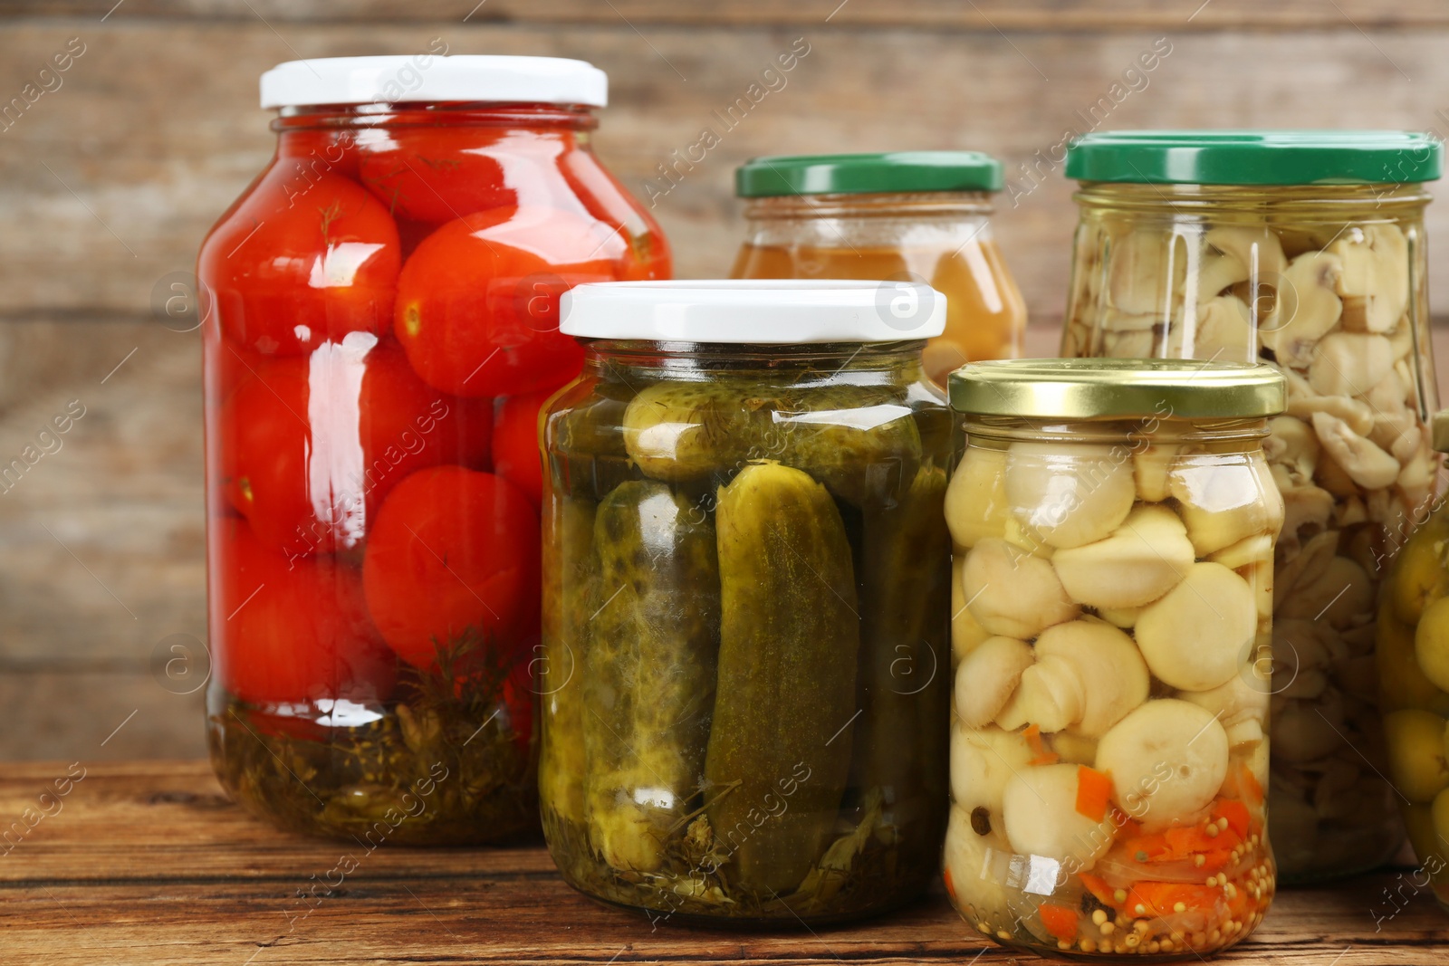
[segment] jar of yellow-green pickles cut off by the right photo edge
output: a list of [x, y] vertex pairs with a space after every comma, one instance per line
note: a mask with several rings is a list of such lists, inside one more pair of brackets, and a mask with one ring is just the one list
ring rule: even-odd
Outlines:
[[[1432, 429], [1435, 449], [1449, 452], [1449, 411], [1436, 413]], [[1384, 582], [1375, 658], [1387, 772], [1420, 873], [1449, 910], [1449, 508], [1442, 501]]]

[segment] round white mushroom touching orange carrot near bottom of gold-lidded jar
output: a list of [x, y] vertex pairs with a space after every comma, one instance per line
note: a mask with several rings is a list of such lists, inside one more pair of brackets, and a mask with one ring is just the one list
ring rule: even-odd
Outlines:
[[1071, 862], [1085, 872], [1111, 847], [1116, 828], [1077, 811], [1077, 765], [1045, 765], [1011, 776], [1001, 797], [1001, 818], [1011, 850]]

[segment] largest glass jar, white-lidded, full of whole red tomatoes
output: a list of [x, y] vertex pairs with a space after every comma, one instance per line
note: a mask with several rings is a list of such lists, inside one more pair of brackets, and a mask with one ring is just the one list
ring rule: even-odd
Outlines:
[[604, 87], [507, 56], [262, 77], [277, 155], [197, 274], [212, 760], [278, 826], [536, 834], [535, 426], [584, 355], [558, 297], [669, 271], [590, 151]]

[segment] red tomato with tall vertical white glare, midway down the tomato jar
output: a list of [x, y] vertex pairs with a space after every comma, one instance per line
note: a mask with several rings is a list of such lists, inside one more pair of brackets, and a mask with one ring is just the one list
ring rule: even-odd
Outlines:
[[442, 462], [485, 466], [491, 407], [445, 397], [365, 333], [272, 359], [222, 408], [223, 485], [268, 546], [355, 546], [388, 491]]

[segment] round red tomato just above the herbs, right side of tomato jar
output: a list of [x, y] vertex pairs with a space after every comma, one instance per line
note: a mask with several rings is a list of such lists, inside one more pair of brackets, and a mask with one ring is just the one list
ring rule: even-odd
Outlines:
[[538, 511], [501, 476], [419, 471], [377, 514], [362, 587], [383, 639], [417, 668], [469, 640], [491, 644], [478, 659], [520, 652], [538, 630]]

